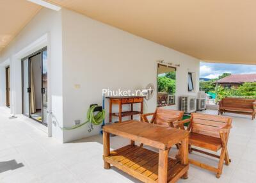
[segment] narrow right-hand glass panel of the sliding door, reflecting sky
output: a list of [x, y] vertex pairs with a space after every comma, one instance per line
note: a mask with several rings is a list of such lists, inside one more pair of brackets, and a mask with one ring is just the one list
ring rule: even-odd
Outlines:
[[47, 51], [42, 54], [42, 116], [47, 124]]

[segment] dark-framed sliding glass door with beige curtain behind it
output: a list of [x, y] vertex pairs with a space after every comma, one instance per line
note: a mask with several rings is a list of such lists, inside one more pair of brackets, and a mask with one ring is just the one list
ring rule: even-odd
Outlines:
[[47, 51], [22, 60], [23, 114], [47, 125]]

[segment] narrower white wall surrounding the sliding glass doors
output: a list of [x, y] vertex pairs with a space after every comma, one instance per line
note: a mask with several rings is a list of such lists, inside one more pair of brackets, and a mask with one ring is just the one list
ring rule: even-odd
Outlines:
[[[37, 44], [36, 42], [42, 36], [47, 35], [47, 42]], [[31, 44], [36, 46], [30, 49]], [[61, 32], [61, 11], [56, 12], [43, 8], [29, 22], [19, 35], [1, 52], [0, 63], [10, 59], [11, 63], [11, 109], [16, 113], [22, 113], [22, 93], [21, 93], [21, 61], [22, 57], [28, 56], [42, 47], [47, 46], [48, 52], [48, 77], [51, 86], [52, 113], [60, 125], [63, 121], [62, 107], [62, 32]], [[18, 56], [17, 56], [18, 55]], [[51, 72], [53, 70], [54, 72]], [[50, 90], [48, 90], [50, 91]], [[48, 105], [50, 106], [50, 105]], [[52, 126], [52, 136], [63, 141], [62, 131]]]

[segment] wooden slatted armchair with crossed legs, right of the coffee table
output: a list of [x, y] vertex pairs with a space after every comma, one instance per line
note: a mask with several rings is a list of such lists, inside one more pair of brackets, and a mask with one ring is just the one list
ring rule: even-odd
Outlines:
[[[193, 150], [202, 154], [211, 155], [220, 159], [218, 168], [200, 163], [193, 159], [189, 159], [189, 163], [204, 168], [206, 170], [214, 171], [216, 177], [220, 178], [223, 169], [223, 163], [228, 165], [231, 160], [228, 157], [227, 143], [228, 136], [231, 129], [232, 118], [226, 116], [205, 115], [200, 113], [192, 113], [190, 119], [182, 120], [180, 126], [184, 123], [189, 123], [189, 152]], [[221, 154], [211, 154], [203, 150], [191, 148], [191, 146], [205, 148], [217, 152], [221, 149]]]

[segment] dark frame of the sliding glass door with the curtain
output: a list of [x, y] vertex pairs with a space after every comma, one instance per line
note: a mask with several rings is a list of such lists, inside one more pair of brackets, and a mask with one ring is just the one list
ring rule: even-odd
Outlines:
[[[24, 57], [21, 59], [22, 61], [22, 65], [21, 65], [21, 74], [22, 74], [22, 114], [24, 116], [27, 116], [29, 118], [32, 118], [33, 120], [35, 120], [36, 122], [42, 124], [42, 125], [45, 125], [47, 126], [47, 123], [44, 123], [44, 95], [42, 93], [42, 87], [43, 87], [43, 51], [47, 51], [47, 47], [44, 47], [36, 52], [33, 52], [32, 54], [29, 54], [28, 56]], [[41, 121], [40, 120], [37, 120], [36, 118], [33, 118], [31, 116], [31, 92], [29, 92], [29, 115], [25, 115], [24, 114], [24, 64], [23, 64], [23, 61], [24, 60], [27, 60], [28, 59], [28, 70], [30, 71], [30, 67], [31, 67], [31, 58], [33, 56], [36, 56], [38, 54], [41, 54], [41, 57], [40, 57], [40, 64], [41, 64]], [[29, 80], [29, 88], [31, 88], [31, 76], [30, 76], [30, 73], [28, 74], [28, 80]], [[31, 90], [31, 89], [30, 89]]]

